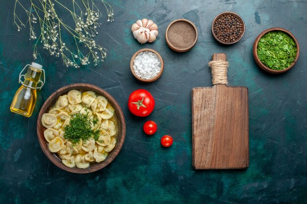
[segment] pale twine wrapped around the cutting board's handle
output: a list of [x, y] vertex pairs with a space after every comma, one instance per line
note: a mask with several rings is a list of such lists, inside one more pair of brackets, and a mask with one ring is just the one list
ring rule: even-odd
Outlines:
[[210, 61], [209, 67], [211, 68], [213, 85], [216, 85], [216, 84], [228, 85], [228, 81], [227, 81], [228, 62]]

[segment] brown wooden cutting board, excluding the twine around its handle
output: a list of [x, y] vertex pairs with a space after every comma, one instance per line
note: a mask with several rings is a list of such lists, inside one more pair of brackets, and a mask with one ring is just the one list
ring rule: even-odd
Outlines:
[[[226, 54], [214, 53], [212, 61], [226, 62]], [[225, 84], [193, 88], [192, 143], [195, 169], [247, 168], [248, 88]]]

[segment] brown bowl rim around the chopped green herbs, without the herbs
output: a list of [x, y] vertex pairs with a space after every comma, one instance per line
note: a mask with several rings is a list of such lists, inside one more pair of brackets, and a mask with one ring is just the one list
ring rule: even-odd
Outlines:
[[[282, 31], [282, 32], [285, 32], [289, 36], [291, 36], [291, 38], [293, 38], [293, 40], [294, 40], [294, 42], [296, 44], [296, 47], [297, 47], [296, 58], [295, 58], [294, 62], [288, 68], [285, 68], [285, 69], [282, 69], [282, 70], [274, 70], [274, 69], [268, 68], [265, 65], [263, 65], [262, 62], [258, 58], [258, 55], [257, 55], [257, 45], [258, 45], [258, 42], [259, 42], [260, 38], [264, 34], [270, 32], [270, 31]], [[262, 33], [260, 33], [258, 35], [258, 37], [255, 40], [254, 46], [253, 46], [253, 55], [254, 55], [254, 59], [255, 59], [257, 65], [260, 68], [262, 68], [264, 71], [267, 71], [267, 72], [273, 73], [273, 74], [281, 74], [281, 73], [284, 73], [284, 72], [290, 70], [296, 64], [297, 60], [299, 59], [299, 55], [300, 55], [300, 46], [299, 46], [298, 41], [296, 40], [296, 38], [294, 37], [294, 35], [290, 31], [288, 31], [286, 29], [283, 29], [283, 28], [280, 28], [280, 27], [273, 27], [273, 28], [269, 28], [269, 29], [264, 30]]]

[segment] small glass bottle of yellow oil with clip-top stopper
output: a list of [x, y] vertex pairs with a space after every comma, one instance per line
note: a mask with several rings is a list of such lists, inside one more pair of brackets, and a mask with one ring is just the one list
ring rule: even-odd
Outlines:
[[[26, 69], [26, 74], [23, 75], [22, 72]], [[33, 109], [36, 103], [36, 90], [41, 89], [45, 84], [45, 71], [42, 69], [43, 66], [32, 62], [31, 65], [26, 65], [26, 67], [19, 74], [19, 83], [22, 86], [16, 91], [13, 98], [10, 110], [14, 113], [19, 113], [26, 117], [30, 117], [33, 113]], [[41, 81], [41, 75], [44, 75], [44, 81]], [[22, 81], [22, 77], [25, 78]], [[41, 85], [38, 87], [38, 84]]]

